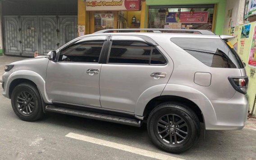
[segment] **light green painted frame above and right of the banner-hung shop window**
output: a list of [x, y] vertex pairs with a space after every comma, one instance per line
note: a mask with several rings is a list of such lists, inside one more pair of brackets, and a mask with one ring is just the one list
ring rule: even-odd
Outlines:
[[146, 5], [217, 4], [215, 34], [222, 35], [226, 2], [227, 0], [146, 0]]

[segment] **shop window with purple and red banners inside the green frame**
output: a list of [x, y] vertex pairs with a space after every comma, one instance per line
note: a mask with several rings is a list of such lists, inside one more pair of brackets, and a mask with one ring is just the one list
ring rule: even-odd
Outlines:
[[148, 28], [214, 31], [216, 4], [150, 6]]

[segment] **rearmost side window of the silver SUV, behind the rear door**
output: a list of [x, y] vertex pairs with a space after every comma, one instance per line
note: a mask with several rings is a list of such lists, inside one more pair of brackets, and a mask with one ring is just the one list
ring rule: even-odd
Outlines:
[[240, 68], [222, 39], [172, 38], [171, 41], [209, 67]]

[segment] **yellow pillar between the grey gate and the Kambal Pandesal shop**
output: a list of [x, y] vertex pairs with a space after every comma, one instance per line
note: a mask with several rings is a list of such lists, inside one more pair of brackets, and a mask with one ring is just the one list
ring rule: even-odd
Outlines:
[[85, 34], [89, 34], [89, 14], [85, 6], [84, 0], [78, 0], [78, 26], [85, 26]]

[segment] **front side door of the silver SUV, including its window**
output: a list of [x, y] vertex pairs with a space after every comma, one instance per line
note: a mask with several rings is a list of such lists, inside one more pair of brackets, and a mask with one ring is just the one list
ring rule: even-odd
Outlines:
[[99, 63], [106, 36], [91, 36], [69, 44], [49, 61], [46, 92], [55, 103], [101, 107]]

